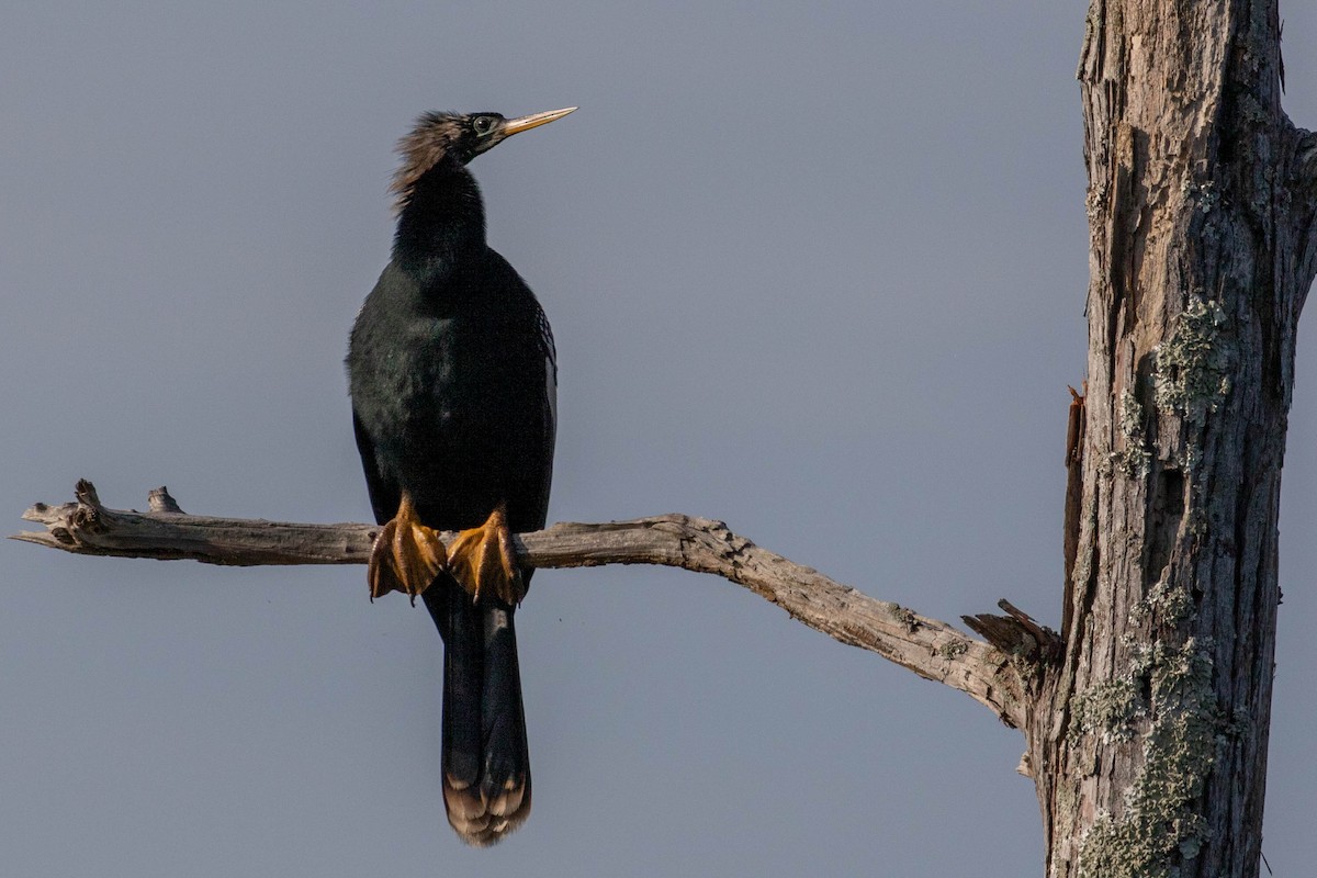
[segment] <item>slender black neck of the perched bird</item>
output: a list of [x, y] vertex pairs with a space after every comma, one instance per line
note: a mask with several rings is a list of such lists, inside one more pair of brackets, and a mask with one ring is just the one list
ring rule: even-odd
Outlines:
[[431, 286], [485, 258], [485, 207], [475, 178], [445, 158], [406, 194], [394, 236], [394, 262]]

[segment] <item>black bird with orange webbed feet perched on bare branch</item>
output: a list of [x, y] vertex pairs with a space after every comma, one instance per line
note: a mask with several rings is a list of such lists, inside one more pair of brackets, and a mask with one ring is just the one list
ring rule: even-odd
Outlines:
[[[427, 113], [399, 142], [392, 258], [352, 329], [353, 426], [375, 520], [371, 599], [420, 595], [444, 638], [448, 821], [489, 845], [531, 811], [514, 612], [544, 527], [557, 363], [531, 288], [485, 244], [466, 163], [576, 107], [504, 118]], [[437, 532], [460, 530], [445, 546]]]

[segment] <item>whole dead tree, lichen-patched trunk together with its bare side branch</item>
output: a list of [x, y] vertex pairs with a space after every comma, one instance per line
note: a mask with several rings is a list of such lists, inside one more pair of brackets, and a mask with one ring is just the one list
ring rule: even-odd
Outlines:
[[[522, 534], [531, 566], [724, 577], [1021, 728], [1048, 878], [1258, 874], [1295, 337], [1317, 274], [1317, 136], [1280, 111], [1275, 0], [1092, 0], [1080, 61], [1088, 391], [1071, 411], [1062, 636], [1002, 603], [988, 642], [719, 523]], [[378, 528], [78, 502], [18, 538], [212, 563], [362, 563]]]

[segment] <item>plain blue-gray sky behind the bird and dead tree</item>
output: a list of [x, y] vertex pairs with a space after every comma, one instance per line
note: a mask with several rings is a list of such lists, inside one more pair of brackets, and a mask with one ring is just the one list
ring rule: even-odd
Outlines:
[[[1317, 9], [1287, 108], [1317, 124]], [[370, 517], [342, 357], [425, 109], [560, 353], [551, 520], [719, 517], [919, 612], [1060, 617], [1088, 280], [1077, 0], [7, 4], [0, 499]], [[187, 8], [184, 8], [187, 7]], [[1306, 332], [1304, 333], [1306, 336]], [[1317, 861], [1317, 354], [1281, 517], [1263, 850]], [[682, 571], [545, 571], [535, 812], [439, 794], [440, 641], [365, 570], [0, 542], [12, 875], [1040, 874], [1018, 732]]]

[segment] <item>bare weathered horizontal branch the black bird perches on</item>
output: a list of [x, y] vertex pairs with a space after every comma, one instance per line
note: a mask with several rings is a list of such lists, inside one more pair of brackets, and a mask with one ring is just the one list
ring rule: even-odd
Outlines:
[[[78, 554], [250, 566], [366, 563], [379, 530], [367, 524], [184, 515], [165, 488], [151, 492], [151, 512], [109, 509], [87, 480], [78, 483], [75, 494], [76, 503], [38, 503], [28, 509], [22, 517], [46, 529], [11, 538]], [[453, 536], [445, 533], [441, 538]], [[520, 561], [532, 567], [652, 563], [722, 577], [836, 641], [868, 649], [965, 692], [1008, 725], [1025, 724], [1027, 696], [1018, 656], [1008, 656], [947, 623], [836, 583], [756, 546], [722, 521], [661, 515], [607, 524], [562, 523], [519, 534], [515, 544]]]

